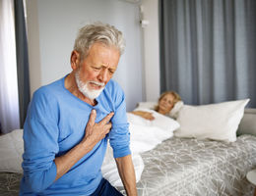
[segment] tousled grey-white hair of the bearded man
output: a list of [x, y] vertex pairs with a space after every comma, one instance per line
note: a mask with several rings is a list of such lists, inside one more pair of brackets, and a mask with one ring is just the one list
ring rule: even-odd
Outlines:
[[123, 54], [125, 40], [121, 31], [113, 25], [95, 23], [80, 28], [74, 44], [74, 50], [78, 51], [81, 59], [87, 57], [91, 46], [96, 43], [103, 43], [106, 46], [114, 46]]

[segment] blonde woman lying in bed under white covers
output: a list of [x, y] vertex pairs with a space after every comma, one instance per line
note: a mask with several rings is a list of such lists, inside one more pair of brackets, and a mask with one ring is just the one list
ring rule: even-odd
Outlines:
[[[174, 91], [165, 91], [160, 95], [158, 105], [155, 107], [154, 110], [161, 115], [168, 115], [174, 105], [179, 101], [181, 101], [181, 98], [178, 93]], [[155, 120], [153, 114], [150, 112], [136, 110], [131, 113], [133, 115], [140, 116], [146, 120]]]

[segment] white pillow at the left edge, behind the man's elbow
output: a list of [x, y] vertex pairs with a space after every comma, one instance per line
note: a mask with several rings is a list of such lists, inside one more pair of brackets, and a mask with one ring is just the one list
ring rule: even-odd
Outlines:
[[0, 136], [0, 172], [23, 172], [23, 130]]

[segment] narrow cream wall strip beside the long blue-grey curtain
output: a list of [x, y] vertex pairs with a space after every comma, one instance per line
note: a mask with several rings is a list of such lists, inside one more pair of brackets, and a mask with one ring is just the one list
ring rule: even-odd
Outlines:
[[147, 101], [157, 101], [160, 96], [160, 33], [159, 1], [142, 0], [141, 20], [149, 25], [143, 28], [144, 77]]

